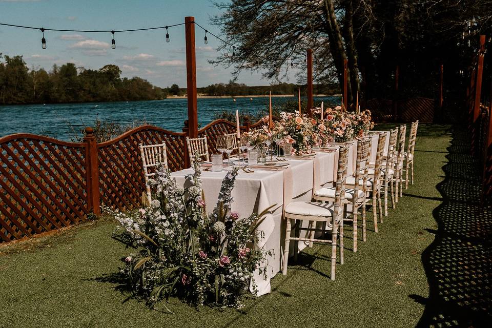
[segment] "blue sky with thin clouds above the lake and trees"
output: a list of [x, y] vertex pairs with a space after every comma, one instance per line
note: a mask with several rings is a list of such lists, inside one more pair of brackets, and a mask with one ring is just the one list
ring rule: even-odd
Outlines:
[[[185, 16], [194, 16], [198, 24], [217, 34], [219, 29], [211, 25], [210, 17], [218, 13], [209, 0], [0, 0], [0, 23], [53, 29], [138, 29], [179, 24]], [[220, 41], [208, 36], [205, 45], [203, 31], [197, 27], [195, 32], [197, 86], [227, 83], [230, 70], [207, 62], [217, 56]], [[165, 34], [165, 30], [116, 33], [113, 50], [111, 33], [45, 31], [47, 49], [42, 49], [40, 31], [0, 26], [0, 53], [23, 55], [29, 67], [47, 70], [67, 62], [87, 69], [115, 64], [122, 76], [140, 76], [159, 87], [174, 83], [186, 87], [184, 26], [169, 29], [170, 43], [165, 42]], [[295, 78], [290, 80], [295, 83]], [[238, 82], [269, 84], [260, 72], [250, 71], [242, 72]]]

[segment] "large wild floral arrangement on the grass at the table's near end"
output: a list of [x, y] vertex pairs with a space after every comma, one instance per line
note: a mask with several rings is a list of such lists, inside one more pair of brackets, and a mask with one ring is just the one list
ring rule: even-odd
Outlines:
[[160, 166], [150, 180], [156, 190], [150, 206], [127, 214], [105, 209], [121, 225], [114, 237], [135, 248], [121, 270], [135, 295], [153, 306], [161, 301], [169, 312], [163, 300], [171, 295], [196, 305], [240, 306], [250, 283], [256, 293], [253, 273], [266, 274], [260, 263], [271, 255], [254, 248], [262, 237], [257, 227], [269, 209], [246, 218], [231, 212], [237, 168], [222, 181], [211, 214], [201, 190], [200, 166], [194, 169], [187, 177], [190, 187], [183, 189]]

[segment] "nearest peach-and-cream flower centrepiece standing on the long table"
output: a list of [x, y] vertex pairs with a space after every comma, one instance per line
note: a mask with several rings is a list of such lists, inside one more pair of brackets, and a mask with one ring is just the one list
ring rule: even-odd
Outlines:
[[295, 113], [280, 113], [280, 120], [275, 122], [275, 134], [283, 135], [280, 144], [292, 144], [296, 155], [308, 154], [318, 141], [315, 119]]

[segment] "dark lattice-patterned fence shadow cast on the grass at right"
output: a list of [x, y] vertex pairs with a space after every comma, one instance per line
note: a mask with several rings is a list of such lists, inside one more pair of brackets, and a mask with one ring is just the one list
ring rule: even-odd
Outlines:
[[480, 206], [480, 171], [461, 130], [447, 150], [445, 179], [436, 186], [442, 203], [433, 211], [438, 230], [422, 253], [429, 297], [408, 297], [425, 304], [418, 327], [490, 326], [492, 208]]

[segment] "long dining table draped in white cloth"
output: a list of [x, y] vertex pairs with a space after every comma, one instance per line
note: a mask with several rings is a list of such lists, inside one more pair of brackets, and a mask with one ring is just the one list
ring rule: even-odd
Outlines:
[[[386, 139], [388, 139], [387, 136]], [[377, 147], [377, 141], [377, 135], [373, 135], [373, 149]], [[352, 175], [356, 165], [357, 142], [354, 140], [348, 145], [350, 148], [347, 174]], [[255, 247], [264, 251], [272, 251], [272, 255], [267, 256], [264, 263], [261, 264], [267, 269], [266, 276], [260, 274], [259, 270], [255, 274], [257, 296], [270, 293], [270, 279], [281, 270], [285, 240], [285, 222], [282, 219], [283, 208], [292, 201], [310, 201], [317, 189], [326, 185], [331, 186], [336, 181], [337, 147], [333, 150], [314, 150], [313, 155], [308, 158], [285, 157], [285, 159], [289, 166], [284, 169], [255, 169], [253, 172], [239, 170], [232, 190], [234, 202], [231, 211], [238, 212], [241, 217], [260, 213], [273, 206], [258, 227], [258, 231], [262, 231], [262, 235]], [[193, 169], [190, 168], [173, 172], [172, 176], [176, 179], [178, 186], [187, 187], [192, 174]], [[209, 212], [217, 203], [220, 186], [226, 174], [226, 170], [221, 172], [203, 171], [201, 174], [202, 190]], [[303, 227], [308, 223], [303, 222]], [[306, 232], [303, 234], [305, 236]], [[308, 243], [299, 242], [298, 248], [302, 250], [307, 245]], [[291, 247], [294, 247], [294, 243], [291, 243]], [[253, 291], [253, 286], [250, 287], [250, 290]]]

